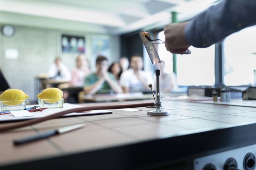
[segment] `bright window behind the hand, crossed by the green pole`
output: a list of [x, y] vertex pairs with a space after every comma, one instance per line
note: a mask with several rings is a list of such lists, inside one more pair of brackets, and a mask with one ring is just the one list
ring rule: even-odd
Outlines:
[[[164, 31], [159, 32], [159, 39], [165, 41]], [[208, 48], [190, 47], [190, 55], [177, 55], [177, 84], [189, 85], [214, 85], [214, 57], [215, 46]], [[164, 44], [158, 46], [160, 59], [166, 62], [166, 72], [172, 73], [172, 54], [168, 52]]]

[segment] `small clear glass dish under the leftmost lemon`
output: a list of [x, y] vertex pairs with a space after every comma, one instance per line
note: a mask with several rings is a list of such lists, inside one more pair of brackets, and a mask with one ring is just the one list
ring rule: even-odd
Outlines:
[[26, 108], [26, 100], [0, 101], [0, 112], [18, 111]]

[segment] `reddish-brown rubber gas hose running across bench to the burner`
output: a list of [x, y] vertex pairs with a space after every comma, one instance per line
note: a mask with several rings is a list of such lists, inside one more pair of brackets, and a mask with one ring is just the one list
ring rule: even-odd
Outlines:
[[61, 112], [57, 112], [54, 114], [50, 114], [48, 116], [44, 116], [42, 118], [36, 118], [32, 120], [26, 120], [24, 122], [19, 122], [14, 125], [0, 127], [0, 132], [22, 128], [25, 126], [34, 125], [40, 122], [44, 122], [50, 119], [58, 118], [64, 114], [73, 113], [73, 112], [82, 112], [82, 111], [91, 111], [91, 110], [102, 110], [102, 109], [124, 109], [124, 108], [133, 108], [133, 107], [146, 107], [146, 106], [154, 106], [154, 103], [141, 103], [141, 104], [131, 104], [131, 105], [110, 105], [110, 106], [91, 106], [91, 107], [79, 107], [75, 109], [69, 109]]

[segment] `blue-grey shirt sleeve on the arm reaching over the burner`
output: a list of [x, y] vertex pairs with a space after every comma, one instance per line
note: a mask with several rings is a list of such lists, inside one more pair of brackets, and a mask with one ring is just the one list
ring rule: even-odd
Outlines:
[[223, 0], [193, 18], [184, 35], [190, 45], [204, 48], [255, 24], [256, 0]]

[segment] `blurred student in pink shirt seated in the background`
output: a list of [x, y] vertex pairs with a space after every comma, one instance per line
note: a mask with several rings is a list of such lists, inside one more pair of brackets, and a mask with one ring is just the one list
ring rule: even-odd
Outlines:
[[84, 77], [90, 73], [88, 62], [84, 55], [80, 54], [76, 58], [76, 67], [71, 73], [71, 87], [82, 87], [84, 85]]

